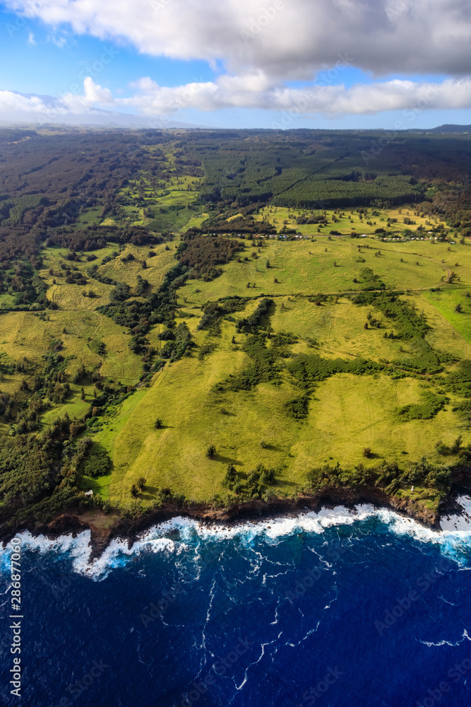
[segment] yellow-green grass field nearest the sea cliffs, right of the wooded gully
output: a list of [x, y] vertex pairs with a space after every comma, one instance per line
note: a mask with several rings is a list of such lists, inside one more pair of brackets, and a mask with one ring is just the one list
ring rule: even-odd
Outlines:
[[[192, 356], [167, 365], [146, 392], [122, 404], [119, 423], [105, 421], [96, 439], [114, 459], [111, 501], [126, 504], [131, 484], [143, 475], [147, 486], [139, 498], [144, 502], [153, 501], [162, 487], [209, 502], [215, 493], [224, 493], [228, 463], [245, 479], [259, 462], [278, 469], [273, 491], [290, 496], [306, 484], [306, 470], [323, 462], [352, 467], [364, 461], [364, 447], [374, 452], [370, 464], [382, 459], [403, 464], [406, 456], [415, 460], [423, 455], [439, 461], [436, 443], [451, 443], [457, 434], [460, 425], [451, 405], [436, 419], [398, 419], [398, 407], [420, 400], [420, 381], [412, 378], [335, 375], [318, 385], [306, 421], [285, 413], [283, 404], [299, 395], [286, 380], [250, 392], [215, 394], [213, 385], [227, 371], [247, 364], [246, 354], [233, 350], [233, 332], [232, 325], [225, 325], [217, 350], [203, 362]], [[198, 341], [204, 337], [198, 334]], [[327, 344], [321, 353], [328, 355], [329, 349]], [[160, 430], [154, 428], [157, 417], [164, 423]], [[466, 431], [464, 437], [466, 443], [471, 440]], [[212, 460], [205, 456], [210, 444], [217, 450]]]

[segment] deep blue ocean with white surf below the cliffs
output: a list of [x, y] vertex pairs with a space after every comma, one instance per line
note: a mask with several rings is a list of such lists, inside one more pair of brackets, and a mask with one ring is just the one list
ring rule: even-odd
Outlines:
[[21, 697], [6, 547], [2, 705], [471, 704], [471, 530], [453, 523], [366, 506], [231, 530], [177, 518], [91, 565], [88, 532], [20, 538]]

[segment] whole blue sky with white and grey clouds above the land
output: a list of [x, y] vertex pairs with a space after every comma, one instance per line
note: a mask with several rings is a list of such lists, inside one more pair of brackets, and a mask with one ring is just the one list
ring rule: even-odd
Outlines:
[[470, 37], [469, 0], [0, 0], [0, 119], [471, 124]]

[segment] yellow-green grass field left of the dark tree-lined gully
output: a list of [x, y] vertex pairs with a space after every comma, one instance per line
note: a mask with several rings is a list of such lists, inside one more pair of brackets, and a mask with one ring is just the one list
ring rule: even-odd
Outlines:
[[[119, 250], [119, 246], [109, 244], [109, 247], [95, 251], [100, 263], [102, 258], [109, 257]], [[142, 253], [147, 253], [144, 248]], [[154, 272], [155, 284], [160, 284], [167, 262], [162, 258], [167, 253], [162, 246], [157, 247], [155, 261], [160, 265], [149, 268]], [[27, 372], [41, 368], [44, 355], [52, 341], [62, 341], [61, 355], [66, 359], [66, 374], [73, 378], [76, 370], [85, 366], [87, 370], [99, 370], [105, 380], [114, 380], [125, 385], [135, 385], [142, 373], [141, 358], [129, 349], [129, 332], [114, 324], [109, 317], [96, 312], [97, 306], [109, 300], [112, 286], [104, 285], [95, 279], [88, 279], [88, 284], [78, 286], [67, 284], [61, 262], [67, 262], [64, 257], [68, 250], [59, 247], [49, 247], [42, 250], [44, 269], [40, 275], [49, 285], [47, 296], [58, 306], [58, 309], [48, 311], [44, 319], [37, 312], [4, 312], [0, 316], [0, 342], [4, 354], [11, 361], [24, 361]], [[139, 254], [136, 253], [136, 258]], [[168, 258], [169, 260], [169, 258]], [[164, 262], [165, 261], [165, 262]], [[114, 262], [114, 261], [113, 261]], [[90, 267], [85, 257], [81, 262], [74, 263], [85, 274]], [[118, 266], [119, 267], [119, 266]], [[100, 265], [104, 272], [106, 265]], [[49, 269], [54, 274], [49, 274]], [[136, 284], [137, 266], [128, 268], [130, 284]], [[141, 267], [139, 266], [139, 272]], [[142, 271], [144, 272], [144, 271]], [[157, 274], [158, 273], [158, 274]], [[125, 278], [121, 275], [121, 280]], [[152, 279], [152, 275], [149, 280]], [[55, 280], [55, 284], [54, 284]], [[95, 298], [84, 297], [83, 292], [93, 289]], [[98, 355], [95, 344], [105, 344], [105, 354]], [[20, 373], [4, 374], [1, 380], [1, 390], [10, 395], [18, 393], [21, 381], [25, 376]], [[49, 409], [42, 416], [42, 425], [47, 426], [66, 412], [71, 417], [80, 418], [93, 400], [93, 385], [85, 385], [85, 401], [81, 400], [81, 385], [71, 384], [71, 395], [63, 404], [49, 402]]]

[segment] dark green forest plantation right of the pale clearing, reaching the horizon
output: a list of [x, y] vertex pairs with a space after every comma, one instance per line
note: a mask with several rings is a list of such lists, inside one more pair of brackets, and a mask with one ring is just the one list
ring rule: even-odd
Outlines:
[[225, 131], [186, 149], [203, 163], [203, 199], [318, 209], [421, 201], [430, 183], [463, 185], [471, 157], [467, 135], [380, 131]]

